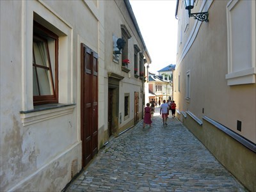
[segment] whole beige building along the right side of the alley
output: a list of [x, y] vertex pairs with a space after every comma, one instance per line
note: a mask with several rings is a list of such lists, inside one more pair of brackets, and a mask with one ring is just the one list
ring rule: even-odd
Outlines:
[[189, 17], [184, 2], [176, 8], [179, 120], [256, 191], [256, 1], [195, 1], [190, 13], [207, 12], [206, 22]]

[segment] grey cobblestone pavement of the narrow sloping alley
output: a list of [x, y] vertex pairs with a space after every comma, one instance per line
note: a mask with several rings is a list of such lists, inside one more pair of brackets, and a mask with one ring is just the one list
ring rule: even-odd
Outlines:
[[113, 138], [66, 191], [246, 191], [179, 120], [152, 121]]

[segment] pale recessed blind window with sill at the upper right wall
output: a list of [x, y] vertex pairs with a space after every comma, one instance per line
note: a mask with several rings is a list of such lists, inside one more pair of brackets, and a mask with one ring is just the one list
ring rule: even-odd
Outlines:
[[256, 1], [229, 1], [227, 4], [227, 84], [255, 83]]

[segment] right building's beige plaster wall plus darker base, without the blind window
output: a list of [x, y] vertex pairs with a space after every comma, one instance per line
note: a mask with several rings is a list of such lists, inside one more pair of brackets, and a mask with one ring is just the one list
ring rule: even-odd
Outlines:
[[[204, 1], [197, 2], [193, 12], [198, 12]], [[174, 72], [177, 108], [180, 112], [190, 111], [200, 120], [205, 115], [255, 144], [256, 84], [229, 86], [225, 78], [228, 74], [226, 6], [229, 1], [207, 2], [211, 3], [209, 22], [198, 24], [190, 18], [182, 44], [178, 42], [177, 67]], [[179, 19], [184, 16], [180, 8], [181, 4]], [[195, 40], [193, 34], [196, 34]], [[185, 99], [188, 71], [191, 91], [190, 99]], [[179, 75], [180, 91], [177, 82]], [[255, 191], [255, 152], [205, 120], [202, 120], [201, 126], [189, 115], [186, 118], [183, 115], [178, 117], [246, 188]], [[237, 131], [237, 120], [242, 122], [241, 131]]]

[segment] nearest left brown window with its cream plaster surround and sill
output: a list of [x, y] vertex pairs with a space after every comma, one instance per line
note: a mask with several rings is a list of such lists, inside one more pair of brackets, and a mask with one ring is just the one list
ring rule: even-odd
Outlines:
[[[30, 13], [33, 17], [29, 17], [26, 20], [28, 24], [25, 25], [28, 33], [22, 34], [22, 38], [26, 40], [26, 60], [22, 63], [25, 72], [22, 74], [24, 102], [20, 111], [24, 126], [52, 118], [55, 110], [68, 114], [74, 109], [70, 94], [73, 73], [70, 67], [72, 51], [68, 49], [72, 47], [72, 26], [45, 8], [44, 15], [36, 13], [32, 7], [28, 9], [28, 15]], [[56, 103], [65, 107], [56, 109]], [[49, 105], [39, 106], [41, 104]], [[44, 111], [44, 115], [40, 111]], [[32, 121], [28, 120], [32, 117]]]

